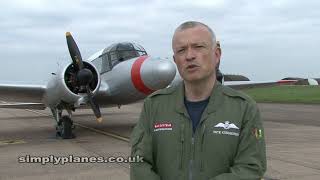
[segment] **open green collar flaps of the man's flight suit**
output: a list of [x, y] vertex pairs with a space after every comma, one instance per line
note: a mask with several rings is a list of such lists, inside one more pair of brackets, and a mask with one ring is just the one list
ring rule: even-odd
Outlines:
[[[176, 90], [176, 111], [179, 113], [184, 113], [188, 116], [187, 109], [184, 105], [184, 82], [180, 83]], [[209, 103], [204, 113], [215, 112], [220, 105], [223, 103], [222, 96], [222, 84], [219, 81], [214, 83]]]

